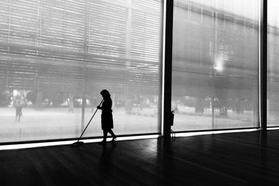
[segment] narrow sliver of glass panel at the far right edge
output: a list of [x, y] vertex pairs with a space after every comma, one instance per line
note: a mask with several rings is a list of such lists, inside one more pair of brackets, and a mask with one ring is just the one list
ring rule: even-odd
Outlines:
[[267, 126], [278, 126], [279, 123], [279, 2], [269, 0], [268, 2], [268, 33], [267, 33]]

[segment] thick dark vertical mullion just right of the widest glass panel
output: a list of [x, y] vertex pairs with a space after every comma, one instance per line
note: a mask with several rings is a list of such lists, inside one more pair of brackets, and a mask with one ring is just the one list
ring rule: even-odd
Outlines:
[[163, 136], [170, 137], [169, 116], [172, 109], [172, 29], [174, 0], [165, 0], [165, 54], [163, 54]]

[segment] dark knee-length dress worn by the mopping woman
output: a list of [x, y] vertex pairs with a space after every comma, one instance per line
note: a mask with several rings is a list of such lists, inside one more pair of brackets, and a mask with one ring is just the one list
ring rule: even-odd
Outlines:
[[102, 130], [112, 129], [113, 128], [112, 99], [111, 98], [105, 99], [100, 109], [102, 109], [102, 116], [101, 116]]

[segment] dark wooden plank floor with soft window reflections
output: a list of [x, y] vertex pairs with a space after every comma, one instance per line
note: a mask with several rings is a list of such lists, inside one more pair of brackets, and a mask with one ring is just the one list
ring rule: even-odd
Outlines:
[[0, 151], [0, 185], [279, 185], [279, 130]]

